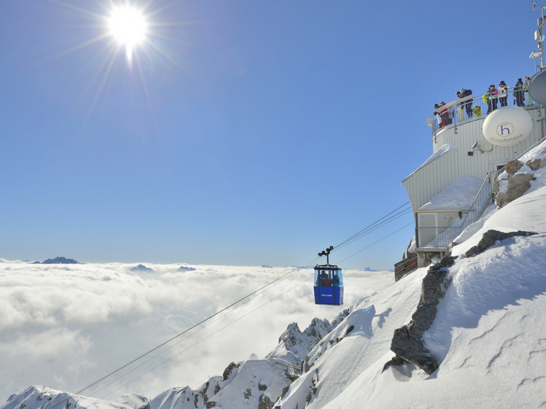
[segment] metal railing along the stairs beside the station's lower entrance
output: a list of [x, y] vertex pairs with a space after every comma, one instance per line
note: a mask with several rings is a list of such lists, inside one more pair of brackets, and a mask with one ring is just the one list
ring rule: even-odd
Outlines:
[[[416, 213], [416, 247], [447, 248], [465, 228], [477, 221], [481, 215], [484, 214], [486, 207], [489, 206], [489, 203], [491, 203], [491, 197], [493, 196], [493, 181], [495, 177], [496, 172], [489, 172], [487, 174], [486, 178], [484, 179], [484, 183], [481, 184], [478, 194], [474, 198], [474, 202], [472, 202], [472, 206], [470, 206], [468, 210], [460, 211], [461, 218], [455, 220], [453, 223], [455, 226], [451, 225], [448, 228], [422, 228], [418, 225], [419, 219], [418, 213]], [[438, 213], [440, 212], [442, 211], [438, 211]], [[466, 215], [464, 215], [465, 213]], [[440, 231], [436, 233], [433, 230], [436, 230], [436, 232], [438, 232], [438, 230]], [[421, 245], [419, 242], [419, 237], [430, 237], [429, 234], [434, 234], [435, 238]]]

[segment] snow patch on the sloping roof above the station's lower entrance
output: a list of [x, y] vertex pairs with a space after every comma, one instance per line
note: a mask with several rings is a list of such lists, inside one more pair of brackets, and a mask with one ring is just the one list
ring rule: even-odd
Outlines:
[[472, 206], [483, 183], [477, 177], [460, 174], [450, 186], [447, 186], [418, 210], [467, 210]]

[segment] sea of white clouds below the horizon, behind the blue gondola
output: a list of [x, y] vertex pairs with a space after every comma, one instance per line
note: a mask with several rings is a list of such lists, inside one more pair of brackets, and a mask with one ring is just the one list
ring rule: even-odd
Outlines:
[[[295, 271], [269, 291], [228, 315], [217, 315], [191, 337], [190, 332], [182, 335], [138, 364], [155, 357], [150, 362], [136, 369], [129, 366], [84, 394], [93, 395], [104, 387], [94, 396], [115, 400], [126, 392], [151, 397], [174, 386], [196, 388], [209, 376], [221, 375], [232, 361], [251, 354], [264, 357], [290, 323], [303, 330], [315, 317], [332, 320], [394, 281], [391, 271], [347, 269], [345, 305], [316, 306], [312, 269], [197, 265], [190, 266], [195, 271], [177, 271], [182, 264], [145, 264], [155, 272], [130, 271], [136, 265], [0, 259], [0, 402], [33, 384], [75, 393]], [[108, 385], [130, 369], [134, 371]]]

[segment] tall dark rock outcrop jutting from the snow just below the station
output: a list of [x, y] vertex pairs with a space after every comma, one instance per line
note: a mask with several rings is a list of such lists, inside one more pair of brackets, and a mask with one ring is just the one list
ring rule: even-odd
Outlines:
[[423, 334], [433, 325], [438, 303], [451, 284], [447, 267], [455, 264], [455, 258], [446, 256], [428, 269], [421, 287], [421, 298], [410, 323], [394, 330], [391, 351], [396, 357], [387, 362], [384, 369], [403, 362], [411, 362], [429, 375], [438, 369], [438, 360], [423, 344]]

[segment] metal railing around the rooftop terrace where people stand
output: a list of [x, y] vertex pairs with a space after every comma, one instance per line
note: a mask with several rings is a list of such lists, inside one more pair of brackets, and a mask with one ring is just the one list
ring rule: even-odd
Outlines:
[[[450, 105], [450, 103], [447, 105]], [[528, 92], [514, 91], [513, 88], [511, 88], [508, 89], [508, 93], [506, 94], [506, 105], [525, 107], [536, 106], [538, 104], [533, 101]], [[470, 108], [467, 108], [467, 106]], [[464, 121], [472, 121], [475, 118], [483, 117], [496, 108], [501, 108], [501, 101], [498, 99], [498, 95], [493, 96], [491, 99], [484, 97], [483, 95], [474, 96], [474, 99], [472, 100], [463, 101], [462, 103], [457, 102], [454, 105], [449, 106], [447, 112], [442, 112], [442, 106], [440, 106], [437, 110], [437, 112], [440, 113], [430, 120], [430, 126], [433, 128], [433, 137], [436, 133], [440, 132], [440, 130], [452, 128]]]

